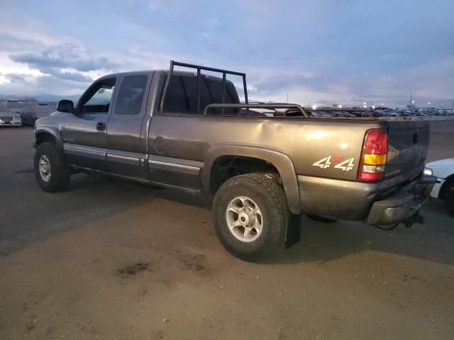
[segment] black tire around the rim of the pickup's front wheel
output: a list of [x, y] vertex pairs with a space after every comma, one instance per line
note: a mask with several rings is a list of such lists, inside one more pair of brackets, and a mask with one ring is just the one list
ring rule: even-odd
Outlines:
[[[41, 156], [47, 156], [50, 162], [50, 179], [44, 181], [41, 177], [39, 162]], [[65, 155], [60, 152], [52, 142], [44, 142], [35, 151], [35, 178], [40, 188], [48, 193], [63, 191], [70, 186], [71, 170], [68, 166]]]

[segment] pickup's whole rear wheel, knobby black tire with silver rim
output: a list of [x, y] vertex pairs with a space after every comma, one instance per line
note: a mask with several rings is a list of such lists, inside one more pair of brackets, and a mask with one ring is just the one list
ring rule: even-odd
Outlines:
[[245, 174], [224, 182], [214, 197], [214, 229], [224, 248], [260, 261], [284, 248], [289, 208], [270, 174]]

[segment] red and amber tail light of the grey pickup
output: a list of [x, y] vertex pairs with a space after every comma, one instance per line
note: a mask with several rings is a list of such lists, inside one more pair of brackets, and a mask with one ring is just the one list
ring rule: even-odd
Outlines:
[[379, 182], [383, 179], [388, 153], [388, 134], [383, 129], [367, 130], [362, 144], [358, 181]]

